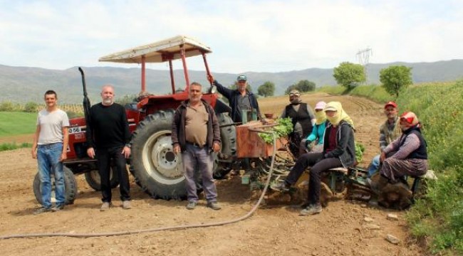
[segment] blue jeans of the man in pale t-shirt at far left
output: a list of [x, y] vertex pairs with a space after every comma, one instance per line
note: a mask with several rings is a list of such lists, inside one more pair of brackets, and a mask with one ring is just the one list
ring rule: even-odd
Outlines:
[[51, 208], [51, 175], [55, 176], [56, 206], [65, 203], [63, 163], [60, 161], [63, 143], [37, 146], [38, 176], [41, 183], [42, 206]]

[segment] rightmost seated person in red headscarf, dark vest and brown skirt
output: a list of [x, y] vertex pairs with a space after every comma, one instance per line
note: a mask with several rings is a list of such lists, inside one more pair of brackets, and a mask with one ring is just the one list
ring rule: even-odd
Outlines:
[[[380, 178], [370, 183], [371, 188], [379, 193], [388, 182], [395, 183], [403, 176], [422, 176], [427, 171], [426, 141], [421, 134], [420, 122], [413, 112], [400, 116], [402, 135], [387, 145], [380, 155], [382, 163]], [[387, 157], [387, 155], [392, 156]]]

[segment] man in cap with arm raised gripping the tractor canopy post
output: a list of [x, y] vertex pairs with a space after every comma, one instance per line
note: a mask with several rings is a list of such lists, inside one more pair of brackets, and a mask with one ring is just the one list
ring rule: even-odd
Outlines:
[[[207, 76], [207, 80], [211, 82], [212, 85], [217, 87], [217, 91], [219, 91], [224, 97], [227, 98], [229, 101], [229, 105], [231, 107], [231, 119], [233, 122], [243, 122], [243, 117], [241, 116], [243, 111], [249, 112], [256, 112], [257, 117], [259, 119], [264, 120], [261, 115], [261, 111], [259, 110], [259, 103], [257, 103], [256, 96], [254, 93], [249, 92], [246, 89], [247, 87], [247, 78], [246, 75], [239, 75], [236, 78], [238, 82], [238, 88], [236, 90], [231, 90], [227, 87], [221, 85], [217, 80], [214, 80], [212, 75]], [[250, 119], [247, 118], [249, 121]]]

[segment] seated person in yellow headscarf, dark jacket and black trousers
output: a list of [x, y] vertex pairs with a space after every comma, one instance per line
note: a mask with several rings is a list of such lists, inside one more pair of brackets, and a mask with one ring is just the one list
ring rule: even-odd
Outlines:
[[286, 179], [271, 186], [275, 190], [288, 190], [310, 166], [308, 206], [301, 210], [301, 215], [321, 213], [321, 172], [342, 166], [347, 168], [355, 161], [354, 132], [352, 126], [345, 121], [347, 114], [342, 105], [340, 102], [329, 102], [324, 111], [330, 124], [325, 130], [323, 151], [300, 156]]

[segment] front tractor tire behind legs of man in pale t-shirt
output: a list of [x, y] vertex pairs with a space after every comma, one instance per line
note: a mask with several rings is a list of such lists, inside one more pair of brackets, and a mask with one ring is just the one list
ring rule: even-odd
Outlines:
[[[74, 203], [74, 200], [77, 196], [77, 182], [76, 178], [74, 177], [73, 172], [68, 167], [63, 166], [64, 171], [64, 188], [65, 188], [65, 204], [71, 205]], [[38, 203], [43, 204], [42, 196], [41, 196], [41, 183], [40, 177], [38, 173], [36, 174], [35, 178], [33, 178], [33, 194], [36, 196]], [[55, 178], [51, 175], [51, 202], [56, 202], [55, 198]]]

